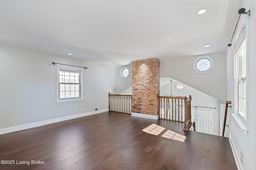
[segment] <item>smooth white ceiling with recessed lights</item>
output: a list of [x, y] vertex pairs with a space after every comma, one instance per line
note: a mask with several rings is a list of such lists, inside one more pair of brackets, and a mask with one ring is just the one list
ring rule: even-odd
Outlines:
[[0, 43], [118, 65], [222, 52], [240, 2], [0, 0]]

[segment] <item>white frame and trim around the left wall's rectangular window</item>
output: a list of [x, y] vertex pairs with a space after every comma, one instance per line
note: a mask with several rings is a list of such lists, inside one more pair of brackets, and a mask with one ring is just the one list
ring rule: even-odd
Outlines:
[[[78, 72], [79, 73], [79, 97], [78, 98], [64, 98], [60, 99], [60, 69], [64, 69], [70, 72]], [[68, 83], [69, 84], [69, 83]], [[57, 64], [57, 100], [56, 102], [71, 102], [84, 100], [83, 98], [83, 69], [74, 66], [62, 66]]]

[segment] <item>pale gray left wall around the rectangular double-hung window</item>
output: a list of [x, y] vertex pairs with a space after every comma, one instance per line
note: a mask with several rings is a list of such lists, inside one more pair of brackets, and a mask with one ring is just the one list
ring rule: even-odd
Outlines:
[[[56, 66], [85, 66], [83, 101], [56, 102]], [[0, 44], [0, 129], [108, 109], [116, 68]], [[52, 111], [52, 115], [49, 114]]]

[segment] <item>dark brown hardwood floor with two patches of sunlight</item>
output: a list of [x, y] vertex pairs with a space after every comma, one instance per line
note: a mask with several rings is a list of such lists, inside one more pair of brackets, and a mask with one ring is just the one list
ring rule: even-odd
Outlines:
[[0, 160], [15, 161], [0, 170], [237, 169], [228, 138], [114, 112], [0, 135]]

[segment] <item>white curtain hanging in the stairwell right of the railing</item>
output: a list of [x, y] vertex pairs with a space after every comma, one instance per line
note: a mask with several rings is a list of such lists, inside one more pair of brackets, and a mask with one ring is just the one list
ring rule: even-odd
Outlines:
[[196, 107], [195, 112], [194, 119], [196, 123], [196, 131], [202, 133], [212, 133], [212, 109]]

